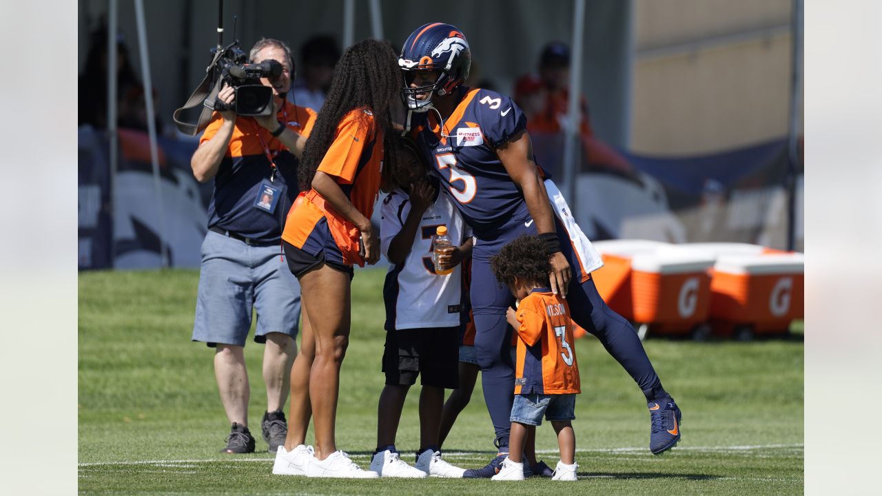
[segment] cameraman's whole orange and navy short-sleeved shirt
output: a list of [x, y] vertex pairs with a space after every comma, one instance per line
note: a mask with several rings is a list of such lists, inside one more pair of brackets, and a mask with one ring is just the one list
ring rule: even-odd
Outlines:
[[[310, 135], [316, 122], [316, 113], [286, 101], [280, 109], [279, 120], [284, 119], [288, 129]], [[217, 112], [199, 139], [199, 145], [212, 139], [221, 129], [223, 118]], [[264, 145], [269, 148], [276, 164], [273, 184], [284, 190], [273, 214], [254, 207], [261, 191], [260, 183], [272, 174]], [[226, 154], [214, 176], [214, 192], [208, 205], [208, 228], [218, 227], [249, 237], [259, 243], [280, 243], [285, 214], [297, 197], [297, 159], [288, 148], [275, 139], [253, 117], [237, 117]]]

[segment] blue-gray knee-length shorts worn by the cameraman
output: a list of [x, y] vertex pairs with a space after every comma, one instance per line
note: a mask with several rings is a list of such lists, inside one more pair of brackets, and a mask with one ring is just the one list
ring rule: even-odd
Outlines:
[[208, 231], [202, 242], [192, 340], [244, 346], [252, 309], [258, 313], [255, 342], [266, 342], [269, 333], [297, 336], [300, 284], [280, 246], [249, 246]]

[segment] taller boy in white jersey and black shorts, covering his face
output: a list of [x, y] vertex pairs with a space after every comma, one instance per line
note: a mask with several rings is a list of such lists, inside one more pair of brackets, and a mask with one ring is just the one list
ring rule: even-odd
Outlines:
[[[441, 458], [438, 431], [445, 388], [459, 386], [459, 330], [462, 302], [460, 261], [472, 249], [471, 233], [437, 182], [426, 179], [415, 145], [397, 143], [385, 164], [380, 227], [381, 252], [392, 262], [383, 289], [386, 342], [385, 387], [377, 407], [377, 451], [370, 470], [381, 477], [462, 477], [464, 469]], [[440, 257], [450, 274], [435, 273], [432, 239], [446, 226], [453, 246]], [[407, 390], [422, 376], [420, 449], [416, 467], [400, 460], [395, 433]]]

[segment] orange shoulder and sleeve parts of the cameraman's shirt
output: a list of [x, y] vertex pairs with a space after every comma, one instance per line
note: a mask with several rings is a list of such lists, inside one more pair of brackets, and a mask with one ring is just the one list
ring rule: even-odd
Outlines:
[[[290, 122], [297, 123], [296, 125], [288, 125], [288, 129], [300, 133], [304, 138], [309, 137], [310, 132], [312, 132], [312, 126], [316, 123], [317, 114], [306, 107], [295, 106], [290, 101], [285, 102], [285, 111], [280, 110], [276, 116], [281, 120], [286, 112], [288, 116], [285, 124], [288, 125]], [[305, 123], [303, 122], [304, 117]], [[208, 124], [206, 131], [199, 138], [199, 146], [201, 147], [203, 143], [212, 139], [220, 131], [222, 124], [223, 118], [221, 118], [221, 114], [214, 112], [211, 123]], [[260, 138], [264, 139], [266, 147], [269, 147], [271, 150], [279, 150], [284, 147], [279, 139], [276, 139], [268, 130], [258, 124], [254, 117], [238, 117], [235, 120], [233, 134], [230, 136], [229, 145], [224, 156], [263, 155], [264, 147], [260, 144]]]

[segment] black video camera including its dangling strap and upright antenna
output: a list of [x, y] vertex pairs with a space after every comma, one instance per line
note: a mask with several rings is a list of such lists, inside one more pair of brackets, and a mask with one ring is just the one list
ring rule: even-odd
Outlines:
[[[235, 39], [235, 24], [233, 38]], [[279, 77], [282, 66], [275, 60], [251, 64], [248, 54], [239, 47], [238, 40], [223, 46], [223, 0], [218, 0], [218, 43], [211, 49], [211, 53], [212, 62], [206, 68], [206, 77], [183, 107], [176, 109], [172, 116], [178, 130], [196, 136], [206, 129], [214, 110], [228, 109], [227, 105], [217, 100], [217, 94], [224, 83], [234, 88], [235, 100], [230, 108], [236, 114], [269, 116], [273, 113], [273, 88], [260, 84], [260, 79]], [[183, 112], [199, 106], [202, 107], [202, 112], [197, 123], [184, 122]]]

